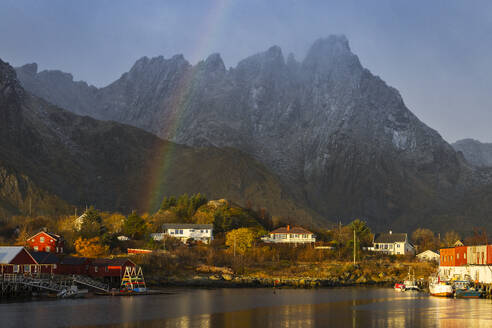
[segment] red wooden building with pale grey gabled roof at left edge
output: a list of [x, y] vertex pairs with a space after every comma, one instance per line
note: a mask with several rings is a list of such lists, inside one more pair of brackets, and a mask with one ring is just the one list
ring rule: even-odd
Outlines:
[[31, 273], [35, 272], [38, 263], [22, 246], [0, 247], [0, 273]]

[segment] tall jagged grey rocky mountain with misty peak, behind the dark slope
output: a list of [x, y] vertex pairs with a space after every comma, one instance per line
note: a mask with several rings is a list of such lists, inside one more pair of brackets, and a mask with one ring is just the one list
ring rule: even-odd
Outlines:
[[218, 54], [196, 65], [143, 57], [92, 102], [84, 114], [249, 154], [295, 202], [331, 221], [469, 227], [481, 218], [462, 209], [476, 198], [456, 206], [491, 181], [365, 69], [344, 36], [317, 40], [302, 61], [273, 46], [230, 69]]

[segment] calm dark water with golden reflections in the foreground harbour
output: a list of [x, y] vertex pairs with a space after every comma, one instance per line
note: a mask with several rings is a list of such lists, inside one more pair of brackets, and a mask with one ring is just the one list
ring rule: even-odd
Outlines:
[[490, 300], [390, 288], [174, 291], [0, 304], [0, 327], [492, 327]]

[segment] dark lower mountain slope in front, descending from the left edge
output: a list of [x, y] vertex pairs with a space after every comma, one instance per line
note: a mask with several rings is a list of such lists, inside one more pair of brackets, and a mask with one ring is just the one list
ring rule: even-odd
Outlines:
[[164, 195], [185, 192], [323, 222], [250, 156], [177, 145], [135, 127], [75, 115], [26, 92], [0, 60], [0, 216], [72, 213], [71, 205], [90, 204], [154, 211]]

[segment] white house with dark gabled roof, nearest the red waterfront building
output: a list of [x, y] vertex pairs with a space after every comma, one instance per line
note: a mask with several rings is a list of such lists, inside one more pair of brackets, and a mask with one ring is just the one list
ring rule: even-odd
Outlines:
[[391, 255], [415, 254], [415, 247], [410, 244], [406, 233], [377, 233], [374, 235], [373, 246], [368, 250]]

